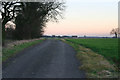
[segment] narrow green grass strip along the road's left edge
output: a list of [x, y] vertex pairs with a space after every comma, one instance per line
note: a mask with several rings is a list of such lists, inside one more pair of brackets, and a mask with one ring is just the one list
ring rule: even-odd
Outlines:
[[30, 46], [36, 45], [40, 42], [42, 42], [44, 39], [40, 39], [40, 40], [34, 40], [34, 41], [30, 41], [30, 42], [24, 42], [18, 45], [14, 45], [10, 48], [3, 48], [2, 49], [2, 62], [6, 61], [8, 58], [16, 55], [16, 53], [24, 50], [25, 48], [28, 48]]

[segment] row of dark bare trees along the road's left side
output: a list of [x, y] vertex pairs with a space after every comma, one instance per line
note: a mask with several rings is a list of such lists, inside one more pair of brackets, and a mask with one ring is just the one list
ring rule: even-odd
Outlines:
[[2, 40], [5, 40], [5, 24], [14, 21], [16, 29], [15, 39], [38, 38], [44, 32], [48, 21], [58, 21], [62, 18], [64, 2], [1, 2], [2, 9]]

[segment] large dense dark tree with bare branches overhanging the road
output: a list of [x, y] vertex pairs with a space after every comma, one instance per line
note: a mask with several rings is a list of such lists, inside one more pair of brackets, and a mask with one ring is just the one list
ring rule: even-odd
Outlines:
[[16, 17], [17, 39], [38, 38], [48, 21], [58, 21], [64, 10], [62, 2], [23, 2], [22, 11]]

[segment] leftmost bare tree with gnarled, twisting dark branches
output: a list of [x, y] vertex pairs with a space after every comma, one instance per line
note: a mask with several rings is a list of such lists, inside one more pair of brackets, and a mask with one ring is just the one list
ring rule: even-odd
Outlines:
[[17, 1], [11, 2], [0, 2], [2, 9], [0, 10], [2, 14], [2, 44], [4, 45], [5, 40], [5, 24], [15, 18], [16, 13], [20, 9], [20, 5], [17, 4]]

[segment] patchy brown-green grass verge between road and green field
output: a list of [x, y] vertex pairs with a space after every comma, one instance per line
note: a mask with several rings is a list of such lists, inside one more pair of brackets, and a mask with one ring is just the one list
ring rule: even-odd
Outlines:
[[114, 65], [110, 64], [102, 55], [79, 44], [62, 40], [71, 45], [76, 51], [76, 57], [82, 65], [79, 69], [85, 70], [88, 78], [118, 78], [118, 72]]

